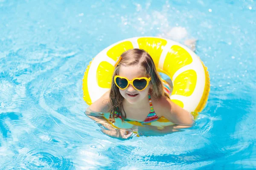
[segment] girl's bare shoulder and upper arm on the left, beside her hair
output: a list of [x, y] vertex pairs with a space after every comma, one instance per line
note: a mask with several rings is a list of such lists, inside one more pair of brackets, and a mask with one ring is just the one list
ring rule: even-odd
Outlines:
[[110, 94], [110, 91], [107, 91], [98, 100], [93, 102], [89, 106], [89, 109], [94, 112], [108, 112], [110, 105], [111, 105], [109, 94]]

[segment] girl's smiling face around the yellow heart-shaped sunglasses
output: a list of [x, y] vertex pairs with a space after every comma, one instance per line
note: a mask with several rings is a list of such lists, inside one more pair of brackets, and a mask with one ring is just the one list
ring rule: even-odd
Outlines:
[[[119, 76], [126, 77], [129, 81], [134, 78], [146, 77], [145, 68], [140, 65], [131, 65], [131, 66], [120, 66]], [[149, 85], [143, 91], [136, 90], [131, 84], [124, 90], [119, 89], [120, 94], [125, 98], [129, 103], [134, 104], [139, 102], [148, 96]]]

